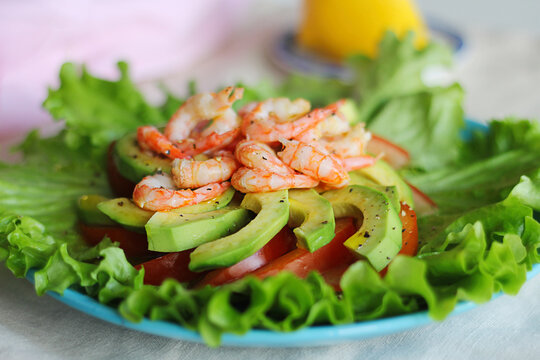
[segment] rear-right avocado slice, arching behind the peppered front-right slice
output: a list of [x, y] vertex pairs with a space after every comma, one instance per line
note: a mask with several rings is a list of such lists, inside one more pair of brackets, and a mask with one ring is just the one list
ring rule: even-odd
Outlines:
[[399, 200], [407, 203], [414, 209], [414, 200], [409, 185], [388, 163], [377, 160], [374, 165], [351, 171], [349, 174], [359, 174], [379, 185], [393, 185], [397, 187]]

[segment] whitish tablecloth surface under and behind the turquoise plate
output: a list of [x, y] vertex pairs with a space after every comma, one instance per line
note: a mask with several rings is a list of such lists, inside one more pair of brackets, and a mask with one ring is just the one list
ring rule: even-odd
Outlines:
[[[272, 10], [272, 9], [270, 9]], [[239, 36], [189, 71], [166, 77], [173, 90], [198, 79], [201, 89], [236, 80], [280, 78], [264, 49], [291, 16]], [[540, 39], [526, 32], [467, 28], [467, 53], [456, 76], [467, 91], [466, 112], [485, 120], [540, 117]], [[226, 70], [223, 70], [226, 69]], [[152, 95], [153, 84], [144, 84]], [[319, 348], [219, 348], [127, 330], [48, 296], [0, 266], [0, 359], [538, 359], [540, 277], [519, 295], [502, 296], [465, 314], [418, 329]]]

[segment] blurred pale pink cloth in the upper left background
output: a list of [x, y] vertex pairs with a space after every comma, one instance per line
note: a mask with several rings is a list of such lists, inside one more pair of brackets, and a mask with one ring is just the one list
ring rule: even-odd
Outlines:
[[50, 124], [41, 109], [62, 63], [115, 78], [127, 60], [135, 81], [192, 65], [226, 40], [236, 0], [0, 2], [0, 141]]

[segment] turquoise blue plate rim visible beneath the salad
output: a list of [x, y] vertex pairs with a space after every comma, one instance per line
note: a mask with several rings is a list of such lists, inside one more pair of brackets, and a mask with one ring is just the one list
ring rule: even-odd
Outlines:
[[[461, 136], [467, 140], [473, 131], [486, 131], [485, 125], [467, 120], [466, 128]], [[533, 266], [527, 273], [527, 279], [540, 273], [540, 264]], [[27, 279], [34, 283], [34, 272], [29, 271]], [[75, 290], [67, 289], [64, 295], [47, 292], [53, 298], [79, 310], [90, 316], [120, 325], [129, 329], [146, 332], [153, 335], [166, 336], [174, 339], [204, 343], [201, 336], [180, 325], [165, 321], [150, 321], [144, 319], [140, 323], [132, 323], [124, 319], [116, 309], [108, 307], [81, 294]], [[501, 293], [493, 295], [493, 298]], [[460, 302], [456, 305], [451, 315], [457, 315], [470, 310], [477, 305], [473, 302]], [[280, 333], [269, 330], [251, 330], [245, 335], [226, 334], [223, 336], [224, 346], [266, 346], [266, 347], [300, 347], [300, 346], [323, 346], [339, 342], [368, 339], [381, 335], [388, 335], [399, 331], [412, 329], [418, 326], [434, 322], [427, 313], [421, 311], [413, 314], [394, 316], [390, 318], [359, 322], [349, 325], [312, 326], [303, 330]]]

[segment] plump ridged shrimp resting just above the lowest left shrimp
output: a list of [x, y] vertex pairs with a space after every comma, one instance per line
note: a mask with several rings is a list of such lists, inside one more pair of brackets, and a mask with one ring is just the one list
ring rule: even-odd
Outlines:
[[229, 180], [238, 168], [234, 155], [222, 151], [208, 160], [176, 159], [171, 173], [179, 188], [198, 188], [207, 184]]

